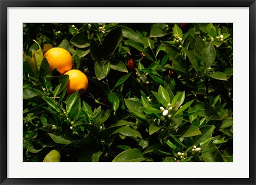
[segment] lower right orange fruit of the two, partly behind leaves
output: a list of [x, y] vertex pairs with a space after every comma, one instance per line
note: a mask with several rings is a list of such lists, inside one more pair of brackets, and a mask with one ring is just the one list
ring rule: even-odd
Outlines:
[[67, 94], [73, 94], [76, 91], [79, 91], [80, 94], [83, 94], [87, 90], [88, 78], [82, 71], [71, 69], [67, 71], [65, 75], [69, 76]]

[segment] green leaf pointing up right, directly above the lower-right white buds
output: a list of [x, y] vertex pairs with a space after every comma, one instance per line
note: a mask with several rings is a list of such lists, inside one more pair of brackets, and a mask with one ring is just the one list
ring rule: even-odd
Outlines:
[[212, 133], [214, 131], [214, 128], [215, 128], [214, 125], [208, 125], [208, 126], [203, 126], [199, 128], [201, 135], [197, 135], [193, 137], [195, 146], [198, 146], [200, 144], [201, 149], [204, 149], [212, 138]]

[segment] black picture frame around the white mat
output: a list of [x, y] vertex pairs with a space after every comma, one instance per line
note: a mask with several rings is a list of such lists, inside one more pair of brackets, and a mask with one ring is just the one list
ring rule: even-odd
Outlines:
[[[250, 22], [250, 178], [248, 179], [10, 179], [7, 178], [7, 7], [249, 7]], [[255, 0], [0, 0], [1, 19], [0, 19], [0, 56], [1, 56], [1, 83], [0, 83], [0, 183], [1, 184], [256, 184], [255, 181], [255, 56], [256, 56], [256, 2]], [[238, 169], [242, 170], [242, 169]]]

